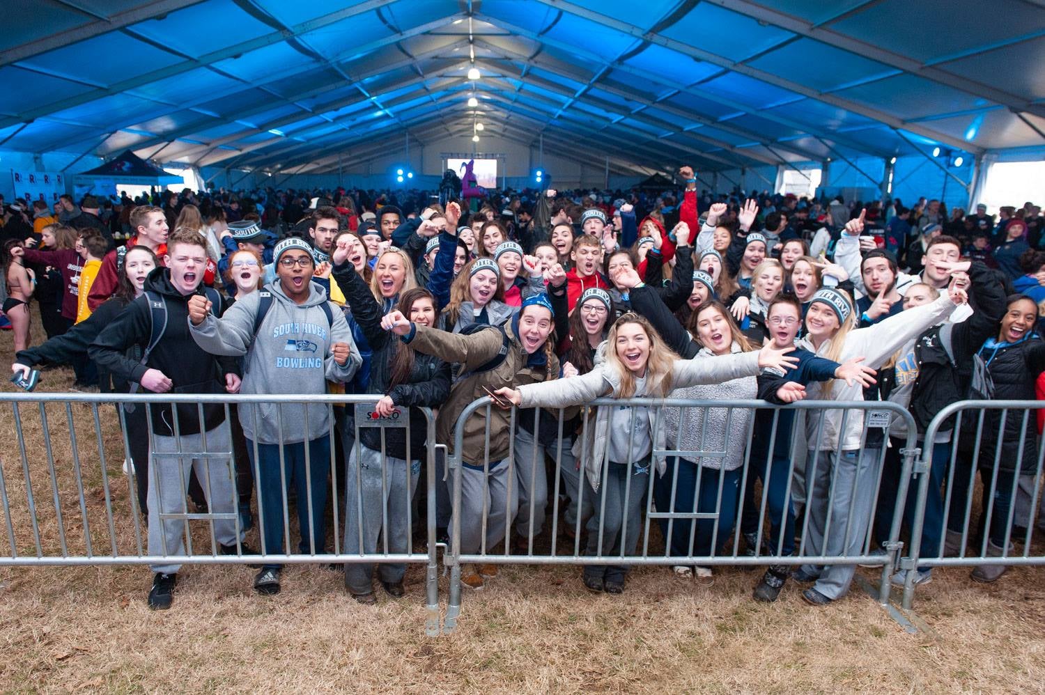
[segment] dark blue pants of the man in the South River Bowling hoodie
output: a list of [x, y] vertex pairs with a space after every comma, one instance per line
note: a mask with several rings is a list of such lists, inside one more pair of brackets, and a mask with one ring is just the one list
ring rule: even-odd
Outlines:
[[[301, 540], [298, 552], [302, 554], [324, 552], [326, 524], [324, 513], [327, 500], [327, 476], [330, 473], [330, 438], [327, 436], [308, 442], [308, 468], [305, 468], [305, 443], [283, 444], [284, 476], [287, 488], [295, 486], [298, 505], [298, 524]], [[283, 525], [289, 541], [289, 510], [283, 507], [284, 489], [279, 468], [279, 444], [257, 444], [247, 440], [251, 465], [256, 466], [258, 486], [258, 514], [261, 516], [261, 552], [268, 555], [283, 553]], [[311, 484], [311, 495], [308, 494]], [[311, 515], [308, 503], [311, 501]], [[284, 517], [284, 514], [287, 514]], [[314, 550], [315, 549], [315, 550]], [[279, 564], [266, 564], [279, 567]]]

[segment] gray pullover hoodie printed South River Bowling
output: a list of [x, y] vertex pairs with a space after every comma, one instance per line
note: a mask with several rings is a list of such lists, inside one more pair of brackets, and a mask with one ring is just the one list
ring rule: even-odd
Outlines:
[[[260, 293], [252, 292], [233, 304], [220, 319], [210, 314], [199, 326], [189, 323], [193, 340], [213, 354], [247, 355], [243, 370], [243, 394], [305, 394], [326, 393], [326, 381], [347, 381], [363, 364], [359, 350], [352, 341], [352, 331], [341, 311], [331, 304], [333, 325], [327, 321], [321, 304], [327, 301], [326, 292], [315, 282], [309, 283], [310, 294], [303, 304], [295, 304], [284, 293], [279, 281], [265, 285], [272, 293], [272, 307], [254, 334], [254, 321], [258, 314]], [[334, 343], [349, 346], [348, 361], [344, 366], [333, 360]], [[280, 437], [279, 413], [282, 414]], [[277, 407], [275, 403], [239, 407], [239, 422], [243, 435], [261, 444], [311, 441], [330, 430], [328, 407], [318, 403], [307, 406], [308, 432], [305, 426], [305, 406]]]

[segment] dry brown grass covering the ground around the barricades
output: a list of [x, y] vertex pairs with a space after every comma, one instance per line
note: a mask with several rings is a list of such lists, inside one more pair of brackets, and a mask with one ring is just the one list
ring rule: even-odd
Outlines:
[[[39, 330], [39, 323], [36, 325]], [[0, 353], [10, 353], [8, 334]], [[45, 374], [42, 390], [69, 384]], [[4, 391], [10, 390], [5, 384]], [[100, 469], [90, 412], [74, 409], [85, 484]], [[0, 410], [3, 472], [19, 552], [32, 552], [10, 410]], [[61, 416], [54, 403], [48, 413]], [[23, 409], [43, 545], [56, 548], [39, 417]], [[113, 416], [102, 411], [107, 427]], [[83, 546], [68, 435], [52, 434], [71, 552]], [[109, 432], [115, 433], [114, 430]], [[107, 438], [115, 509], [127, 518], [117, 435]], [[103, 500], [89, 492], [92, 537], [108, 548]], [[48, 514], [48, 509], [50, 513]], [[2, 519], [0, 519], [2, 525]], [[120, 548], [133, 552], [125, 524]], [[78, 538], [78, 540], [77, 540]], [[6, 535], [0, 531], [3, 553]], [[635, 570], [622, 597], [591, 596], [573, 567], [507, 567], [466, 593], [458, 631], [425, 638], [423, 570], [408, 596], [358, 606], [341, 576], [288, 567], [283, 593], [251, 590], [252, 571], [182, 572], [175, 608], [145, 606], [144, 567], [0, 569], [0, 689], [4, 691], [351, 692], [1038, 692], [1045, 681], [1042, 569], [1012, 570], [994, 585], [962, 569], [936, 570], [916, 609], [935, 634], [909, 634], [860, 589], [827, 609], [806, 606], [789, 584], [773, 605], [750, 600], [757, 573], [722, 569], [714, 585]], [[872, 577], [868, 573], [866, 576]], [[445, 597], [446, 582], [441, 581]], [[467, 592], [467, 589], [466, 589]], [[445, 601], [445, 598], [444, 598]]]

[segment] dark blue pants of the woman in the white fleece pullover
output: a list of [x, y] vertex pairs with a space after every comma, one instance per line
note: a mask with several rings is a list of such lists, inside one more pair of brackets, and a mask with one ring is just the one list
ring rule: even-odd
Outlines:
[[[698, 466], [686, 459], [668, 457], [668, 467], [664, 476], [653, 481], [653, 501], [658, 512], [676, 512], [683, 514], [718, 513], [718, 519], [658, 519], [660, 531], [671, 557], [711, 557], [733, 534], [737, 523], [737, 500], [740, 492], [740, 477], [743, 468], [735, 470], [719, 470]], [[675, 479], [677, 472], [677, 480]], [[722, 504], [719, 506], [719, 485], [722, 487]], [[672, 485], [675, 486], [674, 503], [671, 497]], [[717, 522], [717, 523], [716, 523]], [[716, 530], [716, 526], [718, 527]], [[693, 533], [693, 542], [690, 534]], [[714, 540], [714, 547], [712, 542]], [[691, 553], [692, 550], [692, 553]]]

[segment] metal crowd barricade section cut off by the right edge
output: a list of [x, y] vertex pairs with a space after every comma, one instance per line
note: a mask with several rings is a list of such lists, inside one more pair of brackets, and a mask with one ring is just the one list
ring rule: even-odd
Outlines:
[[[901, 569], [908, 570], [904, 608], [910, 608], [914, 600], [915, 567], [1045, 564], [1045, 554], [1034, 555], [1031, 548], [1036, 526], [1045, 526], [1045, 501], [1042, 501], [1045, 439], [1038, 436], [1037, 422], [1037, 414], [1043, 409], [1045, 401], [962, 400], [939, 411], [926, 427], [925, 441], [939, 441], [935, 446], [924, 446], [914, 468], [919, 485], [910, 525], [911, 540], [909, 553], [900, 561]], [[1020, 437], [1015, 461], [1003, 458], [1006, 425], [1011, 422], [1016, 423]], [[1027, 435], [1036, 442], [1031, 472], [1020, 467], [1027, 455]], [[1014, 463], [1018, 470], [1012, 469]], [[934, 476], [929, 474], [934, 467], [938, 487], [933, 485]], [[981, 495], [979, 518], [974, 523], [977, 485]], [[1020, 506], [1022, 518], [1017, 517]], [[1003, 510], [1001, 515], [996, 514], [998, 509]], [[927, 518], [931, 511], [937, 510], [938, 515]], [[929, 533], [935, 532], [939, 540], [927, 548], [923, 538], [928, 524], [935, 526]], [[999, 526], [1004, 542], [1001, 554], [992, 555], [990, 537]], [[1017, 532], [1020, 527], [1024, 527], [1022, 533]], [[975, 550], [973, 554], [966, 553], [970, 543]], [[1017, 545], [1022, 545], [1022, 552]]]

